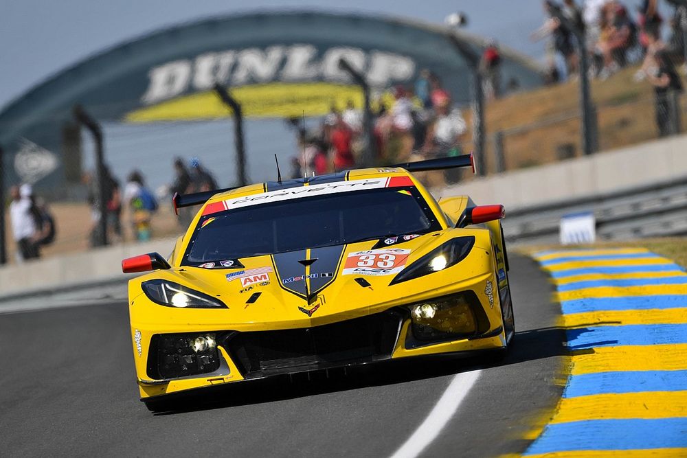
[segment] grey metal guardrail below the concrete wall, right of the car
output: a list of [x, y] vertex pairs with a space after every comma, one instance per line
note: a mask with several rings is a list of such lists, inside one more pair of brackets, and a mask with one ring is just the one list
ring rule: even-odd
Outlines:
[[576, 198], [509, 211], [506, 240], [558, 243], [561, 216], [592, 211], [597, 240], [681, 236], [687, 234], [687, 176], [599, 196]]

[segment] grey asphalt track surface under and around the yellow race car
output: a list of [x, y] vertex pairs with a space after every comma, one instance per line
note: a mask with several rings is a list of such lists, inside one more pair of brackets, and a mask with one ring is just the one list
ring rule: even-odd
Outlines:
[[227, 386], [157, 415], [138, 400], [124, 301], [4, 314], [0, 304], [0, 455], [387, 457], [455, 374], [477, 369], [448, 422], [420, 431], [436, 434], [420, 455], [522, 453], [561, 398], [565, 334], [548, 277], [527, 258], [510, 263], [517, 335], [505, 360], [410, 360]]

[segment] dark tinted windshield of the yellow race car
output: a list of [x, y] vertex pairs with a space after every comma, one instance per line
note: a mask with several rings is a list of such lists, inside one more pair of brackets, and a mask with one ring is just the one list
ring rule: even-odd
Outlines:
[[441, 229], [414, 186], [343, 192], [205, 215], [184, 264], [328, 247]]

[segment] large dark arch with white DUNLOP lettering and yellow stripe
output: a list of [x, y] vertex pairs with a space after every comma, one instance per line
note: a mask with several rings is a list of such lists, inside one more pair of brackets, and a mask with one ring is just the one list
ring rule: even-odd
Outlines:
[[[54, 170], [41, 176], [38, 187], [54, 190], [78, 181], [71, 170], [80, 155], [72, 154], [69, 141], [75, 104], [100, 121], [227, 116], [209, 93], [218, 81], [232, 87], [249, 117], [322, 114], [332, 101], [358, 97], [333, 66], [339, 57], [380, 90], [413, 84], [422, 69], [431, 69], [453, 100], [467, 102], [470, 72], [446, 33], [427, 23], [326, 12], [241, 14], [153, 32], [72, 65], [5, 106], [5, 178], [19, 181], [16, 154], [49, 152]], [[477, 51], [484, 46], [480, 38], [455, 33]], [[525, 89], [541, 84], [532, 60], [508, 49], [502, 57], [502, 81], [515, 78]]]

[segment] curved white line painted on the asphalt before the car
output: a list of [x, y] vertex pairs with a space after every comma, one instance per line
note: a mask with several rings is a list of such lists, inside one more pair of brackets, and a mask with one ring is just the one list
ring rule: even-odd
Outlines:
[[456, 374], [425, 421], [418, 426], [413, 435], [408, 437], [407, 441], [396, 450], [391, 458], [414, 458], [420, 455], [451, 420], [460, 403], [463, 402], [465, 396], [477, 382], [477, 378], [480, 378], [481, 372], [481, 370], [475, 370]]

